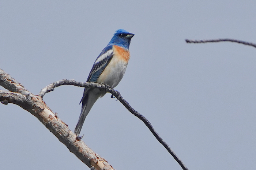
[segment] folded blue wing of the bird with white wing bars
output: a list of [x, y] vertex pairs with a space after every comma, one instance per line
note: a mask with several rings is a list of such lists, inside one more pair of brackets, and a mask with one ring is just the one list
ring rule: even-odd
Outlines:
[[87, 78], [87, 82], [96, 82], [101, 75], [102, 71], [106, 68], [110, 60], [113, 58], [113, 46], [104, 48], [95, 60], [93, 68]]

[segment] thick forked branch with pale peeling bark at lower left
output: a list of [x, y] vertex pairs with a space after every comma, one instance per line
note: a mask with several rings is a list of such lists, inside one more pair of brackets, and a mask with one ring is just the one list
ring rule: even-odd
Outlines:
[[[61, 121], [42, 100], [33, 95], [15, 79], [0, 69], [0, 85], [10, 91], [0, 90], [0, 101], [3, 104], [14, 103], [29, 111], [42, 122], [62, 142], [70, 152], [74, 153], [88, 167], [95, 170], [113, 170], [113, 167], [97, 153], [94, 153], [83, 141], [77, 141], [76, 135]], [[15, 92], [12, 92], [15, 91]], [[25, 94], [22, 94], [24, 93]]]

